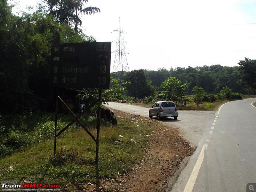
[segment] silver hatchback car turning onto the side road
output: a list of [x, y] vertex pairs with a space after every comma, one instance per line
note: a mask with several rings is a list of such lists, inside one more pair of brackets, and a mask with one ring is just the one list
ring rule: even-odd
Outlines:
[[148, 116], [149, 118], [156, 116], [158, 120], [161, 119], [161, 117], [173, 117], [177, 119], [178, 109], [172, 101], [157, 101], [149, 109]]

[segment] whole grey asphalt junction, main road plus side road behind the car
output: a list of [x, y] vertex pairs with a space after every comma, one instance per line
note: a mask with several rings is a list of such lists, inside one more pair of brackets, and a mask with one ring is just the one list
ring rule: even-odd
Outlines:
[[[198, 146], [170, 191], [246, 191], [248, 183], [256, 183], [254, 101], [228, 102], [218, 111], [179, 110], [177, 120], [161, 120]], [[148, 117], [148, 108], [116, 102], [106, 107]]]

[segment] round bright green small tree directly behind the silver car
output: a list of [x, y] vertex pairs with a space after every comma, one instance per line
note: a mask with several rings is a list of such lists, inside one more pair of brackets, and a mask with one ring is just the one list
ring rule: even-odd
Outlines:
[[175, 77], [169, 77], [161, 84], [160, 89], [162, 90], [162, 95], [165, 99], [171, 99], [174, 101], [177, 98], [186, 96], [188, 84], [184, 84]]

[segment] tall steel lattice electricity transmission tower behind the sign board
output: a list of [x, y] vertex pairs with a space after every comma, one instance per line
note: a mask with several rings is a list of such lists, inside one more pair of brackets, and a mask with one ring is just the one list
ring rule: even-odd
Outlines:
[[[115, 53], [115, 61], [114, 61], [114, 66], [113, 66], [113, 71], [112, 72], [118, 72], [118, 80], [124, 79], [124, 71], [129, 71], [129, 66], [126, 58], [126, 52], [125, 52], [125, 47], [124, 44], [124, 36], [123, 34], [126, 33], [123, 31], [121, 28], [121, 23], [120, 23], [120, 18], [119, 18], [119, 29], [113, 30], [114, 32], [117, 33], [116, 36], [116, 51]], [[112, 32], [113, 32], [112, 31]]]

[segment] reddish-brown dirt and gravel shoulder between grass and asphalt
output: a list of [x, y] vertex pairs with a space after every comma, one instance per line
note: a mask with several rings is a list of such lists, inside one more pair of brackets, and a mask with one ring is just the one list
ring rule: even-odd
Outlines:
[[[131, 114], [114, 110], [120, 118], [131, 118]], [[143, 121], [141, 116], [136, 121]], [[177, 129], [171, 128], [155, 119], [150, 119], [155, 129], [152, 132], [151, 147], [144, 149], [146, 156], [141, 159], [131, 172], [119, 175], [118, 179], [103, 180], [99, 191], [165, 191], [171, 187], [169, 181], [177, 179], [177, 170], [184, 158], [194, 153], [195, 147], [186, 142]], [[96, 191], [90, 186], [88, 191]]]

